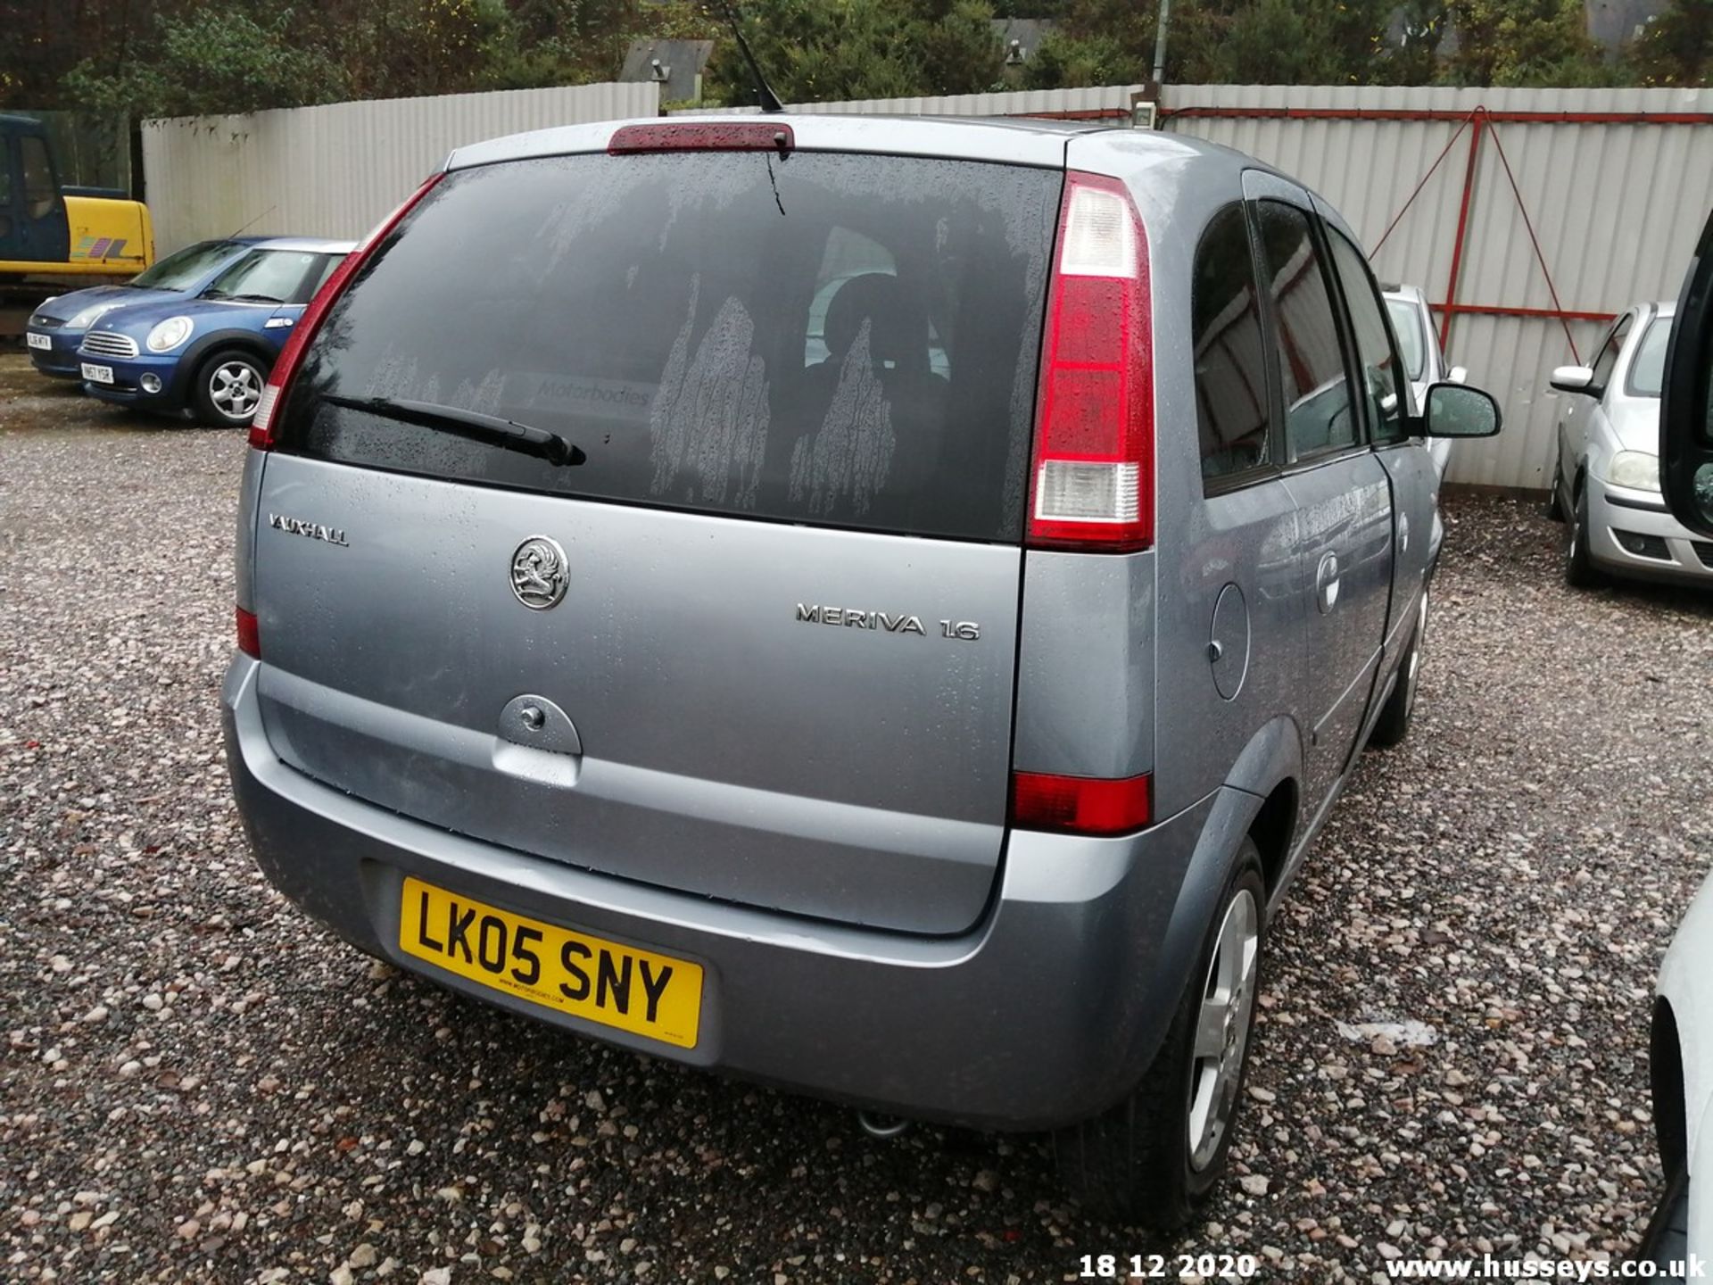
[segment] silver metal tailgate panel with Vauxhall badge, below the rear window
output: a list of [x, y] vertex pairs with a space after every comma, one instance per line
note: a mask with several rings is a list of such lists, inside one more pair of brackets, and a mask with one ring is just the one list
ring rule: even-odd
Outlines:
[[[269, 524], [295, 514], [346, 543]], [[269, 466], [262, 521], [259, 692], [291, 766], [690, 893], [923, 932], [980, 915], [1004, 841], [1016, 548], [296, 459]], [[536, 612], [510, 565], [543, 533], [569, 583]]]

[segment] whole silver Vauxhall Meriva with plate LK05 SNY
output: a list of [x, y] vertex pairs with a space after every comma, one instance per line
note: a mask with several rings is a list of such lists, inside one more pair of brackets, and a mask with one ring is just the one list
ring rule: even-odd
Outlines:
[[1172, 1227], [1269, 910], [1406, 728], [1439, 553], [1350, 230], [1021, 120], [466, 147], [274, 368], [233, 786], [339, 935]]

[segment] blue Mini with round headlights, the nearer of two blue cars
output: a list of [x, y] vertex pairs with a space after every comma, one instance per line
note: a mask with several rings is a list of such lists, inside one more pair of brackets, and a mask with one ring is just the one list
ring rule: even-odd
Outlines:
[[351, 242], [274, 238], [250, 247], [195, 298], [101, 317], [77, 350], [84, 392], [146, 411], [245, 427], [274, 358]]

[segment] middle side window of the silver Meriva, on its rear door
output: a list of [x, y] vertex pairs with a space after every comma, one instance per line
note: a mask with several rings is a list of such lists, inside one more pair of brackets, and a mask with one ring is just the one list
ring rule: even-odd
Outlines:
[[1256, 202], [1285, 387], [1285, 440], [1293, 457], [1357, 444], [1357, 416], [1309, 216], [1281, 200]]

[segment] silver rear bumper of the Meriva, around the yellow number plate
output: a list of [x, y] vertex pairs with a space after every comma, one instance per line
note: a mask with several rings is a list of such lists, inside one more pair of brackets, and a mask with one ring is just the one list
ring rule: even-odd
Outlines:
[[[228, 769], [257, 862], [296, 905], [360, 949], [454, 990], [817, 1097], [978, 1127], [1098, 1114], [1158, 1049], [1223, 886], [1203, 857], [1221, 792], [1120, 840], [1014, 833], [997, 898], [958, 937], [714, 903], [468, 840], [303, 776], [267, 744], [257, 670], [238, 656], [226, 675]], [[401, 953], [406, 874], [701, 963], [697, 1045], [546, 1011]]]

